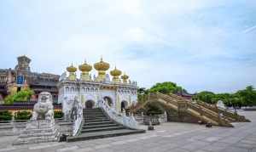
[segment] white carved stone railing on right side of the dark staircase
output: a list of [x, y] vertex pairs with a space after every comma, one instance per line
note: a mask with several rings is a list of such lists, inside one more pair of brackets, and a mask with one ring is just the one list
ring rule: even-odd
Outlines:
[[111, 107], [108, 106], [108, 104], [102, 100], [99, 102], [99, 107], [104, 110], [107, 115], [112, 119], [113, 121], [116, 121], [117, 123], [123, 125], [124, 127], [128, 127], [131, 129], [138, 129], [137, 121], [135, 120], [134, 116], [126, 116], [125, 114], [119, 114], [115, 110], [113, 110]]

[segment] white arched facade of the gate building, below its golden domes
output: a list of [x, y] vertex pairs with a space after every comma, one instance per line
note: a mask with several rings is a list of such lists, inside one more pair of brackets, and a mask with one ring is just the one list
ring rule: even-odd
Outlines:
[[83, 108], [95, 108], [99, 101], [108, 101], [108, 105], [120, 112], [121, 106], [127, 108], [137, 103], [137, 82], [111, 82], [96, 80], [71, 81], [66, 74], [61, 76], [58, 102], [62, 103], [62, 111], [67, 115], [77, 98]]

